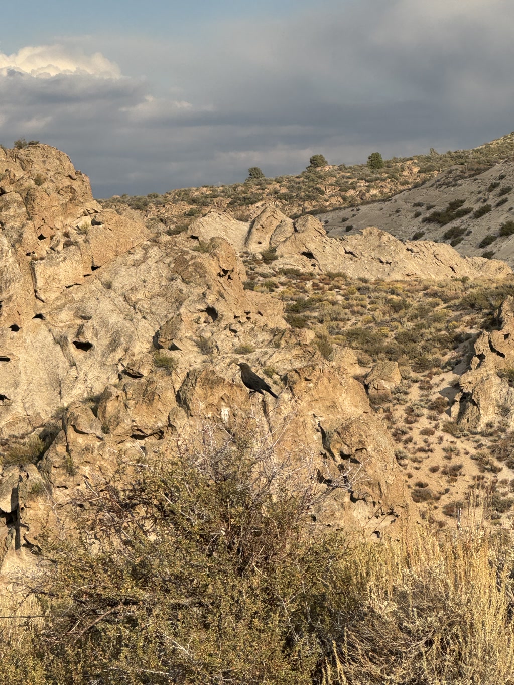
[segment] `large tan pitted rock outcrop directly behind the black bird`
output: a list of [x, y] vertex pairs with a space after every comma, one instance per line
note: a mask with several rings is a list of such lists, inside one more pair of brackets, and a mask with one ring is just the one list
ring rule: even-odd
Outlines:
[[[200, 445], [207, 431], [250, 430], [267, 458], [316, 479], [323, 525], [381, 536], [408, 520], [391, 440], [352, 377], [355, 353], [324, 360], [312, 332], [287, 325], [281, 301], [244, 290], [226, 238], [246, 240], [248, 226], [239, 234], [240, 222], [217, 214], [225, 238], [209, 234], [214, 216], [151, 236], [136, 215], [101, 211], [62, 153], [2, 155], [0, 580], [34, 561], [42, 530], [66, 521], [75, 493], [122, 467], [130, 477], [143, 457]], [[75, 192], [38, 213], [30, 193], [45, 184], [47, 197], [54, 186], [60, 197], [58, 184]], [[250, 242], [311, 234], [326, 239], [312, 217], [293, 226], [265, 208]], [[235, 364], [243, 354], [278, 399], [250, 397]]]

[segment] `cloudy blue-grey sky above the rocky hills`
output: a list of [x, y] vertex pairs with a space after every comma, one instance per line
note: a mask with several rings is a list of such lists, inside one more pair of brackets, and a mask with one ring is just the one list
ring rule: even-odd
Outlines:
[[0, 142], [95, 197], [476, 147], [514, 129], [511, 0], [21, 0], [0, 25]]

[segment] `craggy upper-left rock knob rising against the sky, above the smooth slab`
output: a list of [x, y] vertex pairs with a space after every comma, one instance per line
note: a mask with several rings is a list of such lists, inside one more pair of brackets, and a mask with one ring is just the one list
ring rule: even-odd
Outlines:
[[83, 283], [149, 237], [137, 212], [102, 210], [89, 179], [49, 145], [0, 149], [0, 325]]

